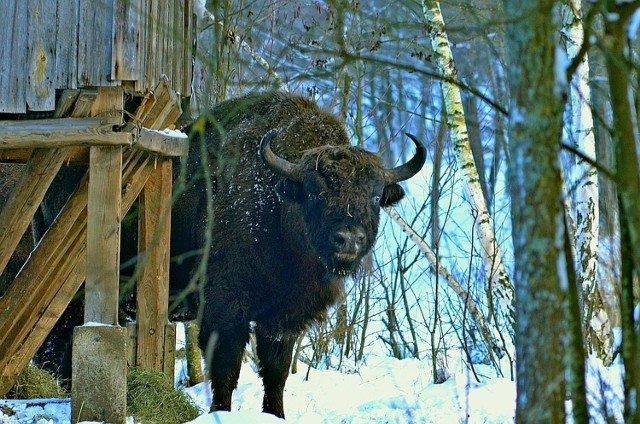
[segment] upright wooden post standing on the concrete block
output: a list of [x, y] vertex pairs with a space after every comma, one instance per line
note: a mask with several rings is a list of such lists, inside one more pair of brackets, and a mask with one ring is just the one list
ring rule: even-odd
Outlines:
[[122, 149], [92, 147], [89, 154], [85, 322], [118, 323]]

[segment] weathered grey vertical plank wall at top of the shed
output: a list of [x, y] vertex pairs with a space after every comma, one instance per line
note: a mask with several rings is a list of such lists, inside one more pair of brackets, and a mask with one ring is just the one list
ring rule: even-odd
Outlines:
[[56, 90], [124, 86], [165, 76], [191, 93], [194, 0], [4, 0], [0, 113], [52, 111]]

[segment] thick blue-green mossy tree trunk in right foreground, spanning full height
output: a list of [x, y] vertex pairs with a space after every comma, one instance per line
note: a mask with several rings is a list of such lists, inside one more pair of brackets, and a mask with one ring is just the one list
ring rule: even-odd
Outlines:
[[516, 422], [564, 424], [569, 282], [559, 165], [553, 0], [503, 0], [512, 104], [509, 179], [515, 252]]

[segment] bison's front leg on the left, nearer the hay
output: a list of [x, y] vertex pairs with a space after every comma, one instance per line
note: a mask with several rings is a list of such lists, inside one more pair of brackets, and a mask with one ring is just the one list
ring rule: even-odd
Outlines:
[[231, 394], [238, 385], [242, 354], [249, 341], [245, 328], [227, 328], [200, 332], [200, 348], [205, 353], [207, 374], [211, 380], [211, 412], [230, 411]]

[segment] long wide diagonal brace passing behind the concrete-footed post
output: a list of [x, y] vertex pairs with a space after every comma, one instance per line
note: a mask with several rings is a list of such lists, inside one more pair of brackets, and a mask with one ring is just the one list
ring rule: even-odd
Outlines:
[[[126, 156], [122, 216], [154, 169], [143, 152]], [[84, 179], [0, 297], [0, 396], [13, 386], [85, 279], [87, 198]]]

